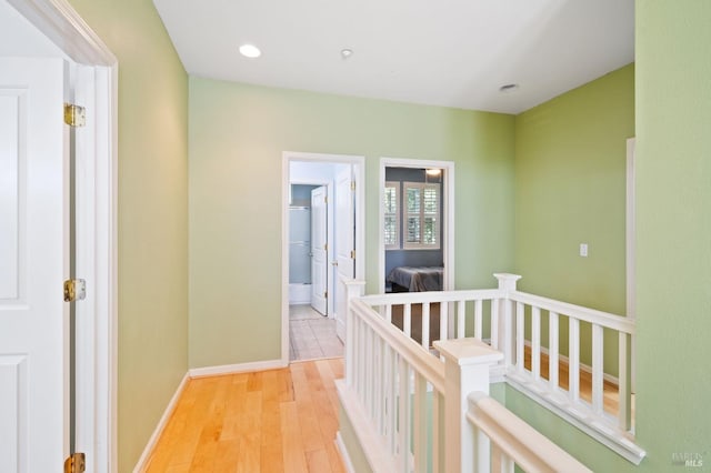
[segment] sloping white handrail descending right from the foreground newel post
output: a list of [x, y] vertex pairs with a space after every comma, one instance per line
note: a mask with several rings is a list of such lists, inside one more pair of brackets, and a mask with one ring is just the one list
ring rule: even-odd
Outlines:
[[[560, 446], [527, 424], [483, 392], [469, 394], [467, 419], [474, 427], [474, 439], [483, 433], [500, 450], [503, 459], [492, 453], [492, 463], [512, 461], [525, 472], [591, 472]], [[473, 446], [473, 445], [472, 445]], [[509, 462], [509, 464], [511, 464]], [[484, 465], [485, 470], [489, 465]]]

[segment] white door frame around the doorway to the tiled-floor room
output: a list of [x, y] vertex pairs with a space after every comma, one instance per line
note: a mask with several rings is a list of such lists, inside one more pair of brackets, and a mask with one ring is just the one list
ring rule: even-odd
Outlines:
[[284, 151], [281, 167], [281, 362], [284, 366], [289, 364], [290, 164], [299, 161], [351, 164], [353, 167], [356, 181], [356, 279], [365, 279], [365, 157]]

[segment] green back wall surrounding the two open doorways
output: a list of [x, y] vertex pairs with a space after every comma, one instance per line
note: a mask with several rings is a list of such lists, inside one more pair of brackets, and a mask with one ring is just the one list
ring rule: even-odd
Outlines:
[[190, 78], [190, 366], [279, 359], [283, 151], [365, 157], [369, 291], [381, 157], [455, 162], [459, 288], [513, 259], [513, 117]]

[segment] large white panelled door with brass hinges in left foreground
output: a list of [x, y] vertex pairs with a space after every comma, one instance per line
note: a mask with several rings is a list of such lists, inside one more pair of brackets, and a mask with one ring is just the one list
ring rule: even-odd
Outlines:
[[68, 454], [68, 165], [61, 59], [0, 59], [0, 470]]

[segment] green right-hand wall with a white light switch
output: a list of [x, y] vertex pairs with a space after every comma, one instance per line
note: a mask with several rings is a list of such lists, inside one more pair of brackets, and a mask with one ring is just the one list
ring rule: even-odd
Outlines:
[[[634, 64], [517, 115], [521, 290], [625, 314], [625, 167], [632, 137]], [[579, 255], [580, 243], [588, 243], [588, 258]], [[542, 322], [548, 345], [547, 315]], [[605, 372], [617, 375], [618, 339], [605, 332], [604, 342]], [[568, 354], [565, 320], [560, 349]], [[589, 324], [581, 324], [581, 360], [591, 363]]]

